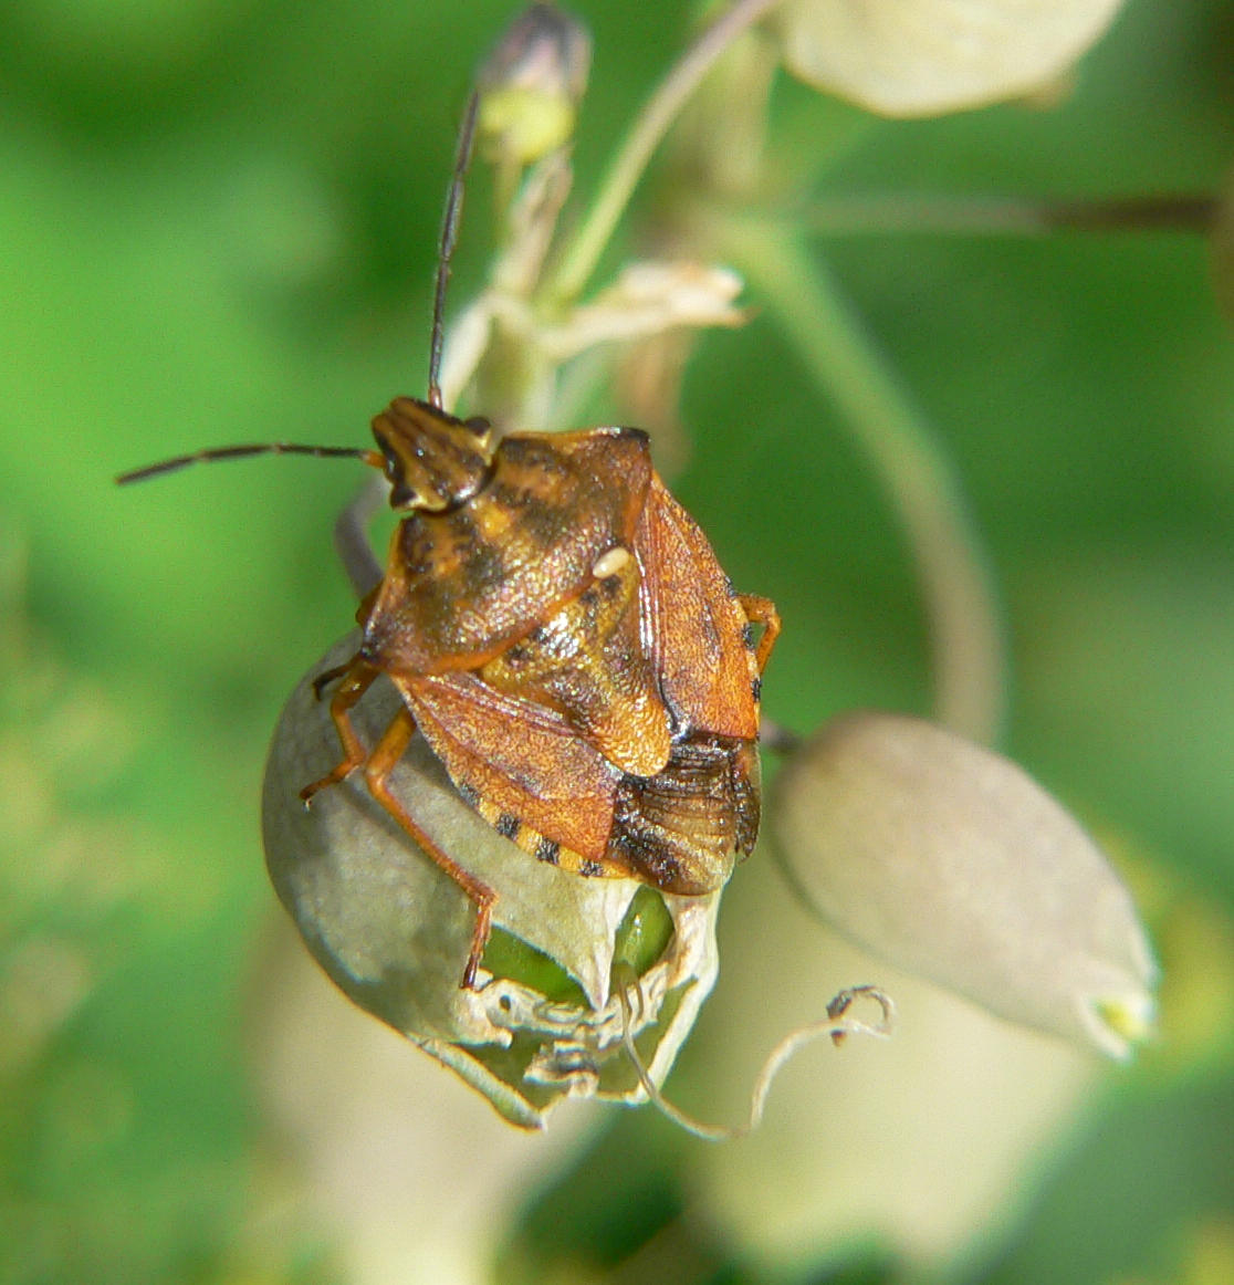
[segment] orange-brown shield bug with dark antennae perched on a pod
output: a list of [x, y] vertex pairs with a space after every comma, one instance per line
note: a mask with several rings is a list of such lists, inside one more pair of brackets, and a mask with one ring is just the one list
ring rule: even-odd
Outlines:
[[[307, 804], [364, 771], [373, 798], [476, 906], [465, 987], [496, 893], [389, 789], [413, 735], [539, 861], [701, 896], [728, 880], [758, 833], [758, 696], [779, 632], [767, 599], [734, 592], [656, 474], [645, 433], [499, 441], [486, 420], [443, 409], [443, 299], [476, 111], [473, 95], [443, 220], [427, 398], [397, 397], [373, 420], [377, 450], [233, 446], [120, 478], [265, 451], [382, 469], [402, 515], [386, 573], [357, 612], [359, 650], [315, 680], [319, 698], [333, 689], [342, 757], [300, 794]], [[351, 711], [380, 676], [401, 705], [365, 745]]]

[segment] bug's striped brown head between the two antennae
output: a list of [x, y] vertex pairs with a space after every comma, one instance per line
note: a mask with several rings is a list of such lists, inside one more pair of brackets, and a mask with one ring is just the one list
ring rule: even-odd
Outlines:
[[373, 420], [386, 461], [389, 506], [442, 513], [487, 481], [494, 433], [486, 419], [455, 419], [414, 397], [396, 397]]

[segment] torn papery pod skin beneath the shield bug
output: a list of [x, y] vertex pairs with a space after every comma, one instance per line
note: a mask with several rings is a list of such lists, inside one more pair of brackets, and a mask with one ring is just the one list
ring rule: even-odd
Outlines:
[[[540, 1128], [566, 1096], [643, 1100], [622, 1047], [614, 962], [639, 975], [636, 1043], [658, 1082], [715, 984], [720, 894], [667, 897], [536, 862], [463, 802], [416, 738], [391, 777], [396, 795], [499, 894], [485, 968], [500, 959], [512, 975], [460, 987], [474, 907], [383, 812], [362, 772], [310, 808], [300, 799], [338, 758], [312, 678], [357, 645], [359, 635], [341, 641], [296, 687], [266, 765], [266, 865], [308, 950], [360, 1007], [451, 1067], [512, 1123]], [[368, 744], [397, 700], [382, 680], [357, 707]]]

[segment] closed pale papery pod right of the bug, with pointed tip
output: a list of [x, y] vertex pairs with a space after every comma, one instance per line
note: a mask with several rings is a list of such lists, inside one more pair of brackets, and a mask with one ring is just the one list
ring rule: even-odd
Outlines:
[[1114, 1058], [1148, 1033], [1156, 966], [1130, 894], [1006, 759], [850, 714], [780, 775], [770, 815], [815, 908], [892, 964]]

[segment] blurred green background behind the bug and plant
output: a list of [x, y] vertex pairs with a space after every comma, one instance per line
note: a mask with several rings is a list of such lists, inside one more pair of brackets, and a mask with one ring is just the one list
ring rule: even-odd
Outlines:
[[[0, 13], [5, 1285], [338, 1279], [324, 1228], [255, 1249], [266, 1162], [244, 1015], [276, 910], [265, 743], [350, 622], [329, 541], [355, 474], [265, 461], [131, 491], [111, 479], [206, 445], [362, 445], [391, 396], [423, 389], [455, 121], [513, 8]], [[573, 8], [596, 41], [586, 191], [688, 6]], [[1132, 0], [1057, 107], [854, 127], [816, 190], [1215, 191], [1231, 50], [1229, 4]], [[810, 111], [833, 127], [833, 109], [785, 93], [803, 139]], [[455, 299], [483, 270], [470, 226], [483, 216], [464, 227]], [[1234, 1264], [1234, 342], [1208, 248], [1171, 233], [905, 233], [820, 251], [987, 542], [1012, 649], [1008, 748], [1139, 855], [1192, 1004], [1180, 1038], [1116, 1077], [999, 1262], [973, 1271], [1228, 1279], [1195, 1275], [1194, 1248], [1215, 1237]], [[684, 419], [677, 493], [734, 581], [784, 616], [769, 713], [806, 731], [855, 705], [926, 712], [911, 562], [773, 319], [704, 339]], [[622, 1118], [618, 1140], [634, 1127]], [[675, 1208], [671, 1164], [622, 1183], [603, 1249], [584, 1209], [537, 1231], [528, 1192], [509, 1261], [550, 1263], [554, 1237], [593, 1266], [636, 1249]], [[1060, 1254], [1063, 1239], [1082, 1253]], [[681, 1279], [747, 1279], [722, 1254], [703, 1262]], [[845, 1279], [883, 1279], [877, 1255]]]

